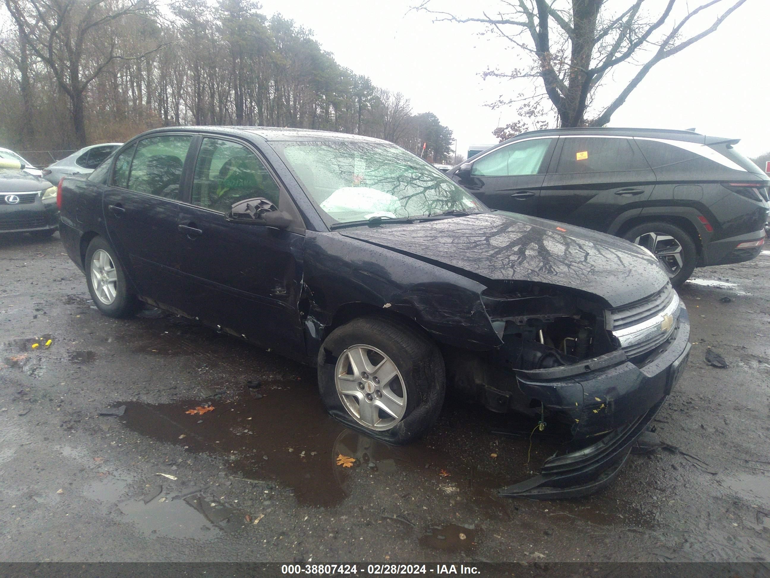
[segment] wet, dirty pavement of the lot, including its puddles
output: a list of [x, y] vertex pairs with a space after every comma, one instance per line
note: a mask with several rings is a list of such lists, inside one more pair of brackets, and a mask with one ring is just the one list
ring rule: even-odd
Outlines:
[[3, 560], [770, 560], [770, 254], [681, 288], [668, 449], [553, 502], [495, 493], [558, 449], [529, 422], [450, 398], [425, 439], [385, 445], [326, 415], [310, 368], [153, 311], [103, 317], [58, 235], [0, 240], [0, 279]]

